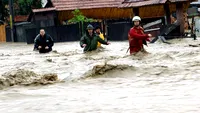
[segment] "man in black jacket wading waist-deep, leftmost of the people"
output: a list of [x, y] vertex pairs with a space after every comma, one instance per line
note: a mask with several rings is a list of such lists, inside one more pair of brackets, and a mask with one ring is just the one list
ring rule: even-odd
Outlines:
[[53, 45], [54, 41], [52, 37], [45, 34], [44, 29], [41, 29], [40, 34], [34, 40], [34, 50], [39, 50], [40, 53], [48, 53], [52, 51]]

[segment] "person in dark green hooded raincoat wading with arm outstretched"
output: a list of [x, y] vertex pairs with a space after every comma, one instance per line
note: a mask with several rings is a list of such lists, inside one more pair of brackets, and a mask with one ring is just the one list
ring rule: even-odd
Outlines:
[[109, 42], [104, 41], [98, 35], [94, 33], [94, 27], [92, 25], [88, 25], [86, 28], [86, 33], [80, 40], [80, 46], [84, 48], [84, 52], [92, 51], [97, 49], [97, 44], [100, 42], [101, 44], [109, 45]]

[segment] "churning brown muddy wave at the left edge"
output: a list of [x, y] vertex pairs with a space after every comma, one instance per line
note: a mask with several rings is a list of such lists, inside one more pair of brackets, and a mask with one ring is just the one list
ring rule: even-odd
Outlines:
[[0, 76], [0, 89], [14, 85], [47, 85], [58, 82], [56, 74], [36, 74], [33, 71], [19, 69]]

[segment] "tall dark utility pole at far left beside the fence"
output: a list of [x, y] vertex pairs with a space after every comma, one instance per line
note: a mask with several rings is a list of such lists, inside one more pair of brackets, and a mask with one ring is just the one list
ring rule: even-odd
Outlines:
[[14, 13], [13, 13], [13, 0], [9, 0], [9, 16], [10, 16], [10, 33], [11, 41], [14, 42]]

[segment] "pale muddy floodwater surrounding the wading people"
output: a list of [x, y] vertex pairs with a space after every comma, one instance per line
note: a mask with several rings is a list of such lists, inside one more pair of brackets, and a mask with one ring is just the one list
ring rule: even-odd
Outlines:
[[79, 42], [56, 43], [49, 54], [1, 43], [0, 75], [23, 69], [55, 73], [59, 82], [3, 87], [0, 113], [199, 113], [200, 41], [170, 42], [136, 56], [126, 53], [126, 41], [87, 54]]

